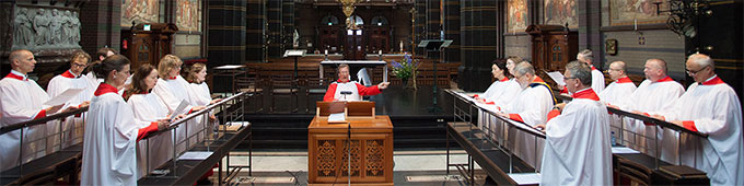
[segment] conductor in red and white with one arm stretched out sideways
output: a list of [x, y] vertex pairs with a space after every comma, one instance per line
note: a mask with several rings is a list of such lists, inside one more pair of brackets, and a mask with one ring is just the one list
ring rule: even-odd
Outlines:
[[373, 86], [364, 86], [356, 81], [349, 80], [349, 65], [341, 63], [338, 66], [338, 80], [328, 85], [324, 102], [334, 101], [361, 101], [364, 95], [376, 95], [382, 90], [387, 89], [390, 82], [382, 82]]

